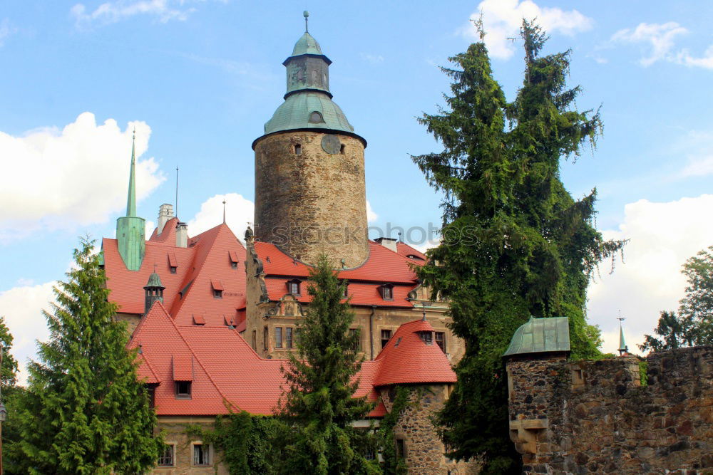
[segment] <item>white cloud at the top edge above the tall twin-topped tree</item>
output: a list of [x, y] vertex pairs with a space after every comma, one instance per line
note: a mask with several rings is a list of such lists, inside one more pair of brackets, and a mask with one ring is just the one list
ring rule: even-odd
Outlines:
[[[540, 7], [531, 0], [483, 0], [472, 18], [483, 14], [483, 26], [486, 31], [485, 43], [493, 58], [508, 59], [513, 56], [515, 47], [511, 38], [519, 36], [523, 18], [536, 19], [548, 33], [563, 33], [573, 36], [578, 31], [592, 28], [592, 19], [577, 10], [565, 11], [556, 7]], [[466, 38], [479, 38], [472, 21], [458, 30]]]

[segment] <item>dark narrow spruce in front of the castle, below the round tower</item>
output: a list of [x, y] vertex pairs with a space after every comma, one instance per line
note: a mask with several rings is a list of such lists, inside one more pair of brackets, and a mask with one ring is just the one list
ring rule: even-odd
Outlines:
[[374, 404], [353, 397], [361, 367], [359, 335], [349, 332], [354, 313], [344, 301], [339, 283], [326, 256], [310, 273], [312, 296], [307, 315], [299, 325], [299, 356], [291, 355], [282, 371], [287, 390], [280, 416], [292, 430], [282, 442], [280, 473], [354, 474], [378, 473], [365, 454], [374, 450], [376, 437], [355, 429]]

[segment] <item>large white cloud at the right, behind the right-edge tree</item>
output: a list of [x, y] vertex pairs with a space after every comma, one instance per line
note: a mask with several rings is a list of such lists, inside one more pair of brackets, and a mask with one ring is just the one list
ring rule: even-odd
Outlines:
[[625, 263], [611, 275], [603, 263], [590, 286], [588, 315], [602, 328], [605, 351], [619, 345], [619, 310], [630, 350], [652, 334], [661, 310], [677, 310], [685, 287], [682, 263], [713, 244], [713, 220], [704, 217], [710, 209], [712, 194], [664, 203], [642, 199], [626, 205], [619, 229], [604, 231], [607, 239], [631, 239]]

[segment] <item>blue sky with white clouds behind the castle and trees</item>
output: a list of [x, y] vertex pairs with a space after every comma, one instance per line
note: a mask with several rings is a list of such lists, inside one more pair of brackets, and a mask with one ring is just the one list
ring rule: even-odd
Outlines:
[[[602, 107], [595, 152], [563, 164], [575, 197], [599, 190], [597, 225], [632, 239], [590, 293], [611, 350], [618, 310], [640, 341], [675, 308], [679, 266], [713, 244], [713, 4], [700, 1], [6, 0], [0, 5], [0, 315], [16, 355], [44, 338], [39, 308], [77, 236], [113, 236], [125, 206], [130, 130], [140, 152], [139, 214], [173, 203], [193, 234], [250, 219], [251, 143], [282, 103], [284, 67], [309, 30], [334, 61], [332, 93], [366, 138], [371, 224], [440, 222], [439, 197], [409, 154], [440, 150], [416, 122], [443, 104], [437, 66], [474, 41], [483, 11], [496, 79], [513, 98], [522, 16], [548, 29], [547, 52], [572, 48], [580, 109]], [[240, 195], [240, 196], [238, 196]], [[417, 234], [412, 235], [416, 237]]]

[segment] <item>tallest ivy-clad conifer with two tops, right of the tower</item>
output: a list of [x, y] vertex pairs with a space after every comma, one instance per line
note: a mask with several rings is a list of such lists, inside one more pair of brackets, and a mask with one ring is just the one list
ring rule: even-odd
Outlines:
[[[485, 454], [486, 473], [517, 472], [508, 439], [501, 355], [530, 315], [570, 318], [573, 355], [598, 357], [598, 329], [585, 319], [590, 274], [622, 241], [593, 226], [596, 191], [575, 200], [560, 160], [595, 145], [599, 113], [579, 112], [568, 88], [570, 51], [540, 56], [547, 38], [523, 21], [525, 80], [506, 101], [482, 41], [442, 68], [453, 79], [447, 108], [419, 121], [443, 151], [413, 157], [443, 192], [442, 241], [419, 278], [451, 302], [453, 332], [466, 342], [458, 383], [438, 424], [451, 455]], [[613, 262], [613, 261], [612, 261]]]

